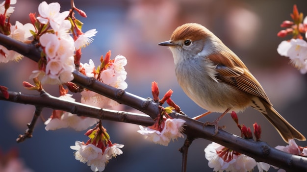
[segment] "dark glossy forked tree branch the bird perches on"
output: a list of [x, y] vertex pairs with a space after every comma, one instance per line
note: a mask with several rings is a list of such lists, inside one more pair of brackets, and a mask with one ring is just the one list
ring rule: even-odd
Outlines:
[[[37, 50], [35, 48], [35, 45], [33, 44], [26, 45], [1, 34], [0, 44], [5, 46], [7, 49], [17, 51], [36, 62], [40, 59], [40, 51]], [[75, 77], [73, 82], [84, 88], [87, 88], [108, 98], [114, 99], [119, 103], [126, 104], [135, 109], [138, 109], [150, 115], [150, 117], [153, 119], [158, 114], [158, 105], [150, 99], [140, 98], [123, 90], [113, 88], [111, 86], [103, 84], [102, 82], [96, 81], [94, 78], [87, 77], [76, 71], [73, 74]], [[42, 95], [25, 95], [21, 93], [9, 92], [9, 94], [9, 98], [5, 99], [2, 93], [0, 93], [0, 100], [8, 100], [17, 103], [49, 107], [52, 109], [59, 109], [71, 112], [80, 116], [87, 116], [111, 121], [120, 121], [142, 125], [151, 125], [153, 123], [153, 120], [147, 116], [128, 112], [115, 112], [111, 110], [84, 105], [78, 102], [64, 101], [62, 99], [52, 97], [47, 93], [44, 93]], [[116, 115], [114, 115], [114, 113]], [[215, 135], [215, 130], [213, 126], [204, 126], [204, 123], [193, 120], [187, 116], [183, 116], [178, 113], [172, 113], [170, 114], [170, 116], [173, 118], [180, 118], [186, 121], [186, 123], [184, 123], [184, 133], [190, 139], [203, 138], [206, 140], [210, 140], [225, 147], [228, 147], [232, 150], [253, 157], [258, 162], [266, 162], [268, 164], [280, 167], [286, 171], [306, 171], [307, 169], [306, 157], [285, 153], [273, 147], [270, 147], [265, 142], [249, 141], [230, 134], [221, 129]]]

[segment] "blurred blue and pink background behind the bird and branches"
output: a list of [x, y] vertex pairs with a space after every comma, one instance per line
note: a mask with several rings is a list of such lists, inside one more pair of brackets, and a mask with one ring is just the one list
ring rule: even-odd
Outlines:
[[[53, 2], [46, 0], [48, 3]], [[41, 0], [17, 0], [11, 23], [18, 20], [29, 23], [28, 14], [37, 12]], [[61, 11], [69, 10], [69, 0], [58, 0]], [[286, 57], [277, 53], [281, 39], [277, 33], [284, 20], [291, 20], [293, 4], [307, 15], [306, 0], [75, 0], [75, 4], [87, 14], [77, 18], [84, 23], [82, 31], [98, 30], [94, 42], [83, 49], [82, 63], [93, 59], [99, 64], [100, 56], [112, 50], [111, 58], [124, 55], [128, 59], [127, 91], [143, 98], [152, 97], [151, 83], [158, 82], [160, 94], [174, 91], [172, 99], [190, 117], [205, 112], [190, 100], [177, 83], [173, 57], [165, 47], [157, 46], [167, 41], [173, 30], [185, 23], [199, 23], [216, 34], [246, 64], [266, 91], [274, 107], [293, 126], [307, 136], [306, 105], [307, 76], [289, 65]], [[305, 17], [305, 16], [304, 16]], [[288, 37], [287, 39], [290, 39]], [[10, 91], [37, 94], [22, 87], [29, 81], [31, 71], [37, 64], [24, 58], [19, 63], [0, 64], [0, 85]], [[45, 86], [51, 95], [58, 96], [58, 87]], [[75, 95], [77, 101], [79, 96]], [[134, 111], [125, 106], [119, 110]], [[33, 138], [17, 144], [16, 138], [26, 130], [34, 107], [31, 105], [0, 102], [0, 160], [14, 150], [25, 167], [31, 172], [91, 172], [90, 168], [75, 160], [70, 149], [75, 141], [87, 141], [84, 132], [60, 129], [47, 132], [44, 122], [38, 121]], [[51, 109], [43, 111], [48, 119]], [[201, 121], [213, 121], [219, 114], [210, 114]], [[253, 127], [257, 122], [262, 127], [262, 139], [270, 146], [285, 145], [278, 132], [256, 110], [249, 108], [238, 114], [239, 123]], [[226, 131], [240, 135], [230, 115], [219, 123]], [[136, 131], [137, 125], [103, 121], [113, 143], [124, 144], [124, 154], [113, 158], [104, 172], [179, 172], [181, 154], [178, 148], [183, 139], [168, 147], [146, 141]], [[210, 141], [195, 140], [188, 154], [188, 172], [210, 172], [204, 149]], [[298, 142], [307, 146], [306, 142]], [[257, 171], [257, 169], [255, 170]], [[274, 172], [274, 169], [270, 169]], [[25, 171], [26, 172], [26, 171]], [[27, 171], [28, 172], [28, 171]]]

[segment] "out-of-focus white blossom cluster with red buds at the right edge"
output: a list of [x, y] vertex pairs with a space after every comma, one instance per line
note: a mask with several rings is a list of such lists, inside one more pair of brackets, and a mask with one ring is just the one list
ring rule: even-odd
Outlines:
[[300, 70], [302, 74], [307, 73], [307, 42], [303, 39], [301, 34], [307, 39], [307, 17], [303, 20], [303, 13], [299, 13], [296, 5], [293, 7], [293, 14], [291, 14], [292, 21], [284, 21], [281, 30], [278, 33], [279, 37], [292, 35], [291, 40], [282, 41], [278, 46], [278, 53], [282, 56], [289, 57], [291, 64]]

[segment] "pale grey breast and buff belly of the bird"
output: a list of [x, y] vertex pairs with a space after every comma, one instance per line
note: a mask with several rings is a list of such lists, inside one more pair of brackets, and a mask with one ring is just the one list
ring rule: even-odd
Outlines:
[[251, 95], [215, 79], [214, 68], [204, 59], [190, 59], [178, 63], [175, 73], [184, 93], [208, 111], [223, 113], [227, 108], [242, 111], [250, 106]]

